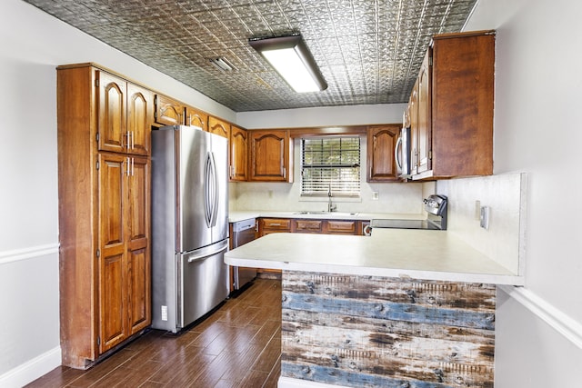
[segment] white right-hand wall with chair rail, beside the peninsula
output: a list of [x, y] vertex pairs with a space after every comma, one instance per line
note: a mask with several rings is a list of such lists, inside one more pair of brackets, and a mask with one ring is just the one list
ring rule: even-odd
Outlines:
[[528, 181], [527, 286], [510, 291], [522, 303], [500, 293], [497, 388], [579, 382], [581, 15], [575, 0], [480, 0], [466, 27], [497, 29], [495, 173]]

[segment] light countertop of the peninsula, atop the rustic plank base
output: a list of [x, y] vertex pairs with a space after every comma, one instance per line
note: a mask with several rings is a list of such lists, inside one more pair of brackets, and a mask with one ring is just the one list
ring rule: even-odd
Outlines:
[[374, 229], [371, 236], [267, 234], [225, 254], [266, 269], [523, 285], [522, 276], [447, 231]]

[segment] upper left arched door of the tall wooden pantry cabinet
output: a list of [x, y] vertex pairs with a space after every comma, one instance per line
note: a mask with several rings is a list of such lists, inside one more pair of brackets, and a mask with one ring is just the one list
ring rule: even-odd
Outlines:
[[99, 150], [125, 153], [127, 145], [125, 90], [122, 78], [96, 72], [99, 80], [98, 128]]

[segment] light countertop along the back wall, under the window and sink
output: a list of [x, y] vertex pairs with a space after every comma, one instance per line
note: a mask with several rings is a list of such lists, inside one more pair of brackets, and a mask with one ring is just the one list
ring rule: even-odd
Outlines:
[[313, 219], [336, 219], [336, 220], [359, 220], [369, 221], [373, 219], [397, 219], [397, 220], [424, 220], [426, 214], [394, 214], [394, 213], [315, 213], [299, 214], [296, 212], [277, 212], [274, 210], [245, 210], [228, 213], [228, 222], [236, 223], [249, 218], [313, 218]]

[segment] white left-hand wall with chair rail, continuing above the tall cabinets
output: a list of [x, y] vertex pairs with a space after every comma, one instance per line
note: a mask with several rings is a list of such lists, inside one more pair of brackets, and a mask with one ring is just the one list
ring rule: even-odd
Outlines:
[[20, 0], [0, 2], [0, 386], [60, 365], [56, 65], [95, 62], [210, 114], [236, 114]]

